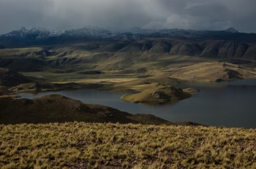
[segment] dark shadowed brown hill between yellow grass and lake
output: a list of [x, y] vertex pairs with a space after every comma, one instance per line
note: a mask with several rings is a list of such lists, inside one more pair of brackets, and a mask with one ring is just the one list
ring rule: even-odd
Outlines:
[[171, 124], [149, 114], [129, 114], [108, 106], [85, 104], [62, 95], [42, 98], [0, 98], [0, 124], [45, 122], [120, 122]]

